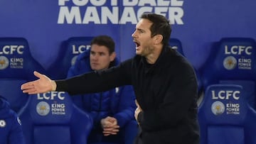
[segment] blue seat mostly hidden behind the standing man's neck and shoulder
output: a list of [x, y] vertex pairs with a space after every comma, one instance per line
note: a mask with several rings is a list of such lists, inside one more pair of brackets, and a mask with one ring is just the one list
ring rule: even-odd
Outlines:
[[[183, 53], [181, 40], [178, 40], [177, 38], [171, 38], [169, 40], [169, 45], [171, 45], [171, 48], [177, 50], [179, 53], [181, 53], [181, 55], [186, 57], [186, 55], [184, 55], [184, 53]], [[198, 94], [200, 94], [201, 90], [202, 90], [201, 75], [199, 74], [198, 70], [196, 70], [196, 68], [194, 70], [196, 72], [196, 77], [197, 77], [197, 82], [198, 82]]]

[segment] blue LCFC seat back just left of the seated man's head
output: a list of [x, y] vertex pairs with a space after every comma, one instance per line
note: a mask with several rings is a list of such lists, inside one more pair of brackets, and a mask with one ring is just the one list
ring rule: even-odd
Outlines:
[[61, 45], [58, 57], [47, 69], [47, 74], [52, 79], [65, 79], [69, 68], [75, 63], [76, 57], [90, 48], [93, 37], [72, 37]]

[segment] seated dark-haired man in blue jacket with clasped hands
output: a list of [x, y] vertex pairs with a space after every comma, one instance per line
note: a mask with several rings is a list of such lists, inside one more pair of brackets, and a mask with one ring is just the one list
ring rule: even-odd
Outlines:
[[[75, 65], [68, 71], [68, 77], [105, 70], [117, 64], [114, 41], [107, 35], [100, 35], [91, 41], [90, 50], [78, 56]], [[94, 127], [88, 143], [133, 143], [137, 135], [137, 122], [134, 118], [136, 105], [132, 86], [72, 98], [78, 107], [89, 112], [93, 118]]]

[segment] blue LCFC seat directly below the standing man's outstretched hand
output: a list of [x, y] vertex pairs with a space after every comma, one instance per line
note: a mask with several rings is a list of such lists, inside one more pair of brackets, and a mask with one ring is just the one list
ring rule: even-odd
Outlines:
[[27, 144], [86, 144], [92, 118], [66, 92], [30, 95], [18, 113]]

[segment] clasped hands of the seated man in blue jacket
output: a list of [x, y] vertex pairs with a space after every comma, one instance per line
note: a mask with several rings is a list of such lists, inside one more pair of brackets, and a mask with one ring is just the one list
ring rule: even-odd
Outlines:
[[102, 118], [100, 121], [103, 128], [103, 135], [116, 135], [119, 132], [119, 126], [117, 125], [117, 119], [107, 116], [107, 118]]

